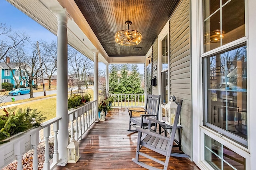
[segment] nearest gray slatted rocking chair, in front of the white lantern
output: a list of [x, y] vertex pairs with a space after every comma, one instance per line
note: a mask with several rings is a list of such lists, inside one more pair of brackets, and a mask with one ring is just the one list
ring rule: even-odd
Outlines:
[[[180, 103], [182, 104], [182, 100], [180, 101]], [[164, 137], [161, 134], [156, 133], [156, 131], [150, 129], [151, 121], [154, 123], [167, 125], [166, 123], [157, 121], [156, 119], [152, 119], [151, 117], [147, 118], [149, 121], [148, 129], [142, 129], [140, 127], [136, 127], [136, 131], [138, 131], [138, 144], [136, 149], [136, 157], [132, 158], [133, 162], [149, 170], [160, 170], [156, 167], [150, 166], [144, 162], [139, 161], [139, 156], [141, 155], [150, 160], [158, 162], [159, 164], [164, 165], [164, 170], [167, 170], [170, 156], [186, 157], [186, 158], [189, 157], [187, 154], [172, 153], [174, 136], [175, 136], [175, 132], [178, 125], [178, 119], [180, 116], [181, 104], [178, 104], [175, 119], [174, 119], [174, 125], [172, 126], [172, 133], [170, 134], [170, 137]], [[150, 150], [153, 150], [157, 153], [160, 153], [166, 156], [165, 161], [152, 157], [146, 154], [146, 152], [141, 152], [140, 149], [142, 147], [146, 147]]]

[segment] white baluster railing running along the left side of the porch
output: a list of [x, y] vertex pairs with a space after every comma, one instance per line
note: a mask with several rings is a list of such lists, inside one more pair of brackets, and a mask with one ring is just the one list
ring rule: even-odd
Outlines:
[[[70, 139], [81, 140], [82, 135], [90, 129], [90, 126], [96, 120], [96, 100], [82, 107], [68, 111], [69, 135]], [[44, 138], [44, 170], [52, 170], [60, 161], [58, 156], [58, 129], [61, 117], [55, 117], [44, 123], [42, 127], [30, 129], [26, 132], [16, 134], [10, 138], [10, 141], [0, 145], [0, 169], [4, 168], [14, 160], [17, 160], [17, 170], [22, 170], [23, 154], [32, 150], [33, 170], [38, 169], [37, 149], [40, 143], [40, 137]], [[54, 153], [49, 160], [49, 140], [54, 140]]]

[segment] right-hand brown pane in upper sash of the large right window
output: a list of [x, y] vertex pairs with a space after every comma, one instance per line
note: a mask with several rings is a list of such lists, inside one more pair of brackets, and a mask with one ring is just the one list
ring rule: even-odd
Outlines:
[[243, 0], [232, 0], [222, 8], [222, 24], [223, 45], [245, 36]]

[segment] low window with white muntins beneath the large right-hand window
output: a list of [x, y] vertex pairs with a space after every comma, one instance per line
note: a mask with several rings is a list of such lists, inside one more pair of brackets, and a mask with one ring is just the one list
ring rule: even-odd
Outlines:
[[[223, 158], [222, 158], [223, 157]], [[204, 134], [204, 160], [213, 168], [245, 170], [245, 158]], [[222, 167], [223, 163], [223, 167]], [[233, 168], [234, 167], [234, 168]]]

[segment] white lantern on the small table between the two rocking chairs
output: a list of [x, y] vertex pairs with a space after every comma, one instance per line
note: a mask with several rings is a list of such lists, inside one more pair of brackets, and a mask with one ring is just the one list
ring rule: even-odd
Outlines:
[[[170, 96], [170, 100], [168, 104], [165, 105], [165, 123], [168, 125], [173, 125], [174, 123], [174, 118], [176, 115], [177, 111], [177, 104], [176, 104], [176, 97], [175, 96]], [[180, 124], [180, 121], [178, 122]]]

